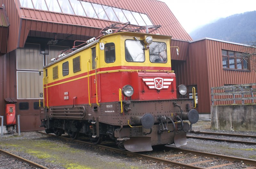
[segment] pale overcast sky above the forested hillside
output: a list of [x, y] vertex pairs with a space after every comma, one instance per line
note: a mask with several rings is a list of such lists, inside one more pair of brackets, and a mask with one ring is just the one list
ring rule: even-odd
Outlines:
[[256, 10], [256, 0], [160, 0], [165, 2], [183, 28], [196, 28], [233, 14]]

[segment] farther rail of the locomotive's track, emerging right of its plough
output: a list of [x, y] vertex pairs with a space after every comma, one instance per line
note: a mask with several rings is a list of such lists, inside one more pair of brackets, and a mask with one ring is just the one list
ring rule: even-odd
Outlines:
[[[167, 146], [166, 146], [167, 147]], [[170, 150], [174, 151], [182, 151], [185, 153], [193, 153], [198, 156], [207, 156], [207, 157], [213, 157], [213, 158], [220, 158], [220, 159], [226, 159], [228, 161], [243, 161], [245, 164], [249, 165], [254, 165], [256, 164], [256, 160], [253, 159], [248, 159], [248, 158], [240, 158], [240, 157], [234, 157], [234, 156], [226, 156], [226, 155], [221, 155], [221, 154], [215, 154], [215, 153], [208, 153], [208, 152], [203, 152], [203, 151], [195, 151], [195, 150], [188, 150], [188, 149], [181, 149], [181, 148], [176, 148], [176, 147], [168, 147]]]

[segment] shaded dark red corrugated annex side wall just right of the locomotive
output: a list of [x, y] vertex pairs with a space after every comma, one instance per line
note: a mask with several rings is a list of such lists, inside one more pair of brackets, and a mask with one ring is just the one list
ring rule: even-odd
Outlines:
[[190, 43], [186, 61], [172, 61], [177, 85], [197, 85], [199, 113], [210, 113], [210, 87], [207, 72], [207, 49], [203, 41]]

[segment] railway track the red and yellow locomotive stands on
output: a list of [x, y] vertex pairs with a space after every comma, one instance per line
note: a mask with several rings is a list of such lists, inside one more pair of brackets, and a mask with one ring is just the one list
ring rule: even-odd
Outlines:
[[[53, 134], [46, 134], [44, 132], [38, 132], [38, 133], [41, 133], [41, 134], [44, 134], [44, 135], [48, 135], [48, 136], [54, 136], [54, 137], [57, 137]], [[63, 137], [63, 136], [60, 136], [58, 138], [61, 138], [61, 139], [65, 139], [65, 140], [72, 140], [70, 138], [67, 138], [67, 137]], [[143, 153], [134, 153], [134, 152], [130, 152], [130, 151], [122, 151], [118, 148], [114, 148], [114, 147], [109, 147], [109, 146], [106, 146], [106, 145], [95, 145], [95, 144], [92, 144], [90, 142], [86, 142], [86, 141], [81, 141], [81, 140], [72, 140], [72, 141], [76, 141], [76, 142], [79, 142], [79, 143], [85, 143], [85, 144], [89, 144], [89, 145], [92, 145], [92, 146], [97, 146], [97, 147], [100, 147], [101, 149], [107, 149], [108, 151], [114, 151], [114, 152], [118, 152], [118, 153], [124, 153], [128, 156], [134, 156], [134, 157], [140, 157], [140, 158], [144, 158], [144, 159], [148, 159], [148, 160], [152, 160], [152, 161], [155, 161], [155, 162], [159, 162], [159, 163], [164, 163], [164, 164], [167, 164], [167, 165], [174, 165], [174, 166], [179, 166], [179, 167], [185, 167], [185, 168], [188, 168], [188, 169], [194, 169], [194, 168], [198, 168], [198, 169], [203, 169], [203, 168], [218, 168], [218, 167], [221, 167], [221, 166], [227, 166], [227, 165], [233, 165], [235, 166], [237, 163], [240, 163], [241, 161], [243, 161], [245, 164], [248, 164], [250, 167], [250, 169], [256, 169], [256, 160], [252, 160], [252, 159], [246, 159], [246, 158], [237, 158], [237, 157], [232, 157], [232, 156], [224, 156], [224, 155], [219, 155], [219, 154], [214, 154], [214, 153], [205, 153], [205, 152], [201, 152], [201, 151], [191, 151], [191, 150], [186, 150], [186, 149], [179, 149], [179, 148], [171, 148], [171, 147], [166, 147], [166, 149], [168, 150], [173, 150], [173, 151], [182, 151], [183, 153], [181, 154], [173, 154], [173, 155], [169, 155], [169, 156], [164, 156], [164, 157], [154, 157], [154, 156], [151, 156], [151, 155], [146, 155], [146, 154], [143, 154]], [[184, 154], [186, 153], [186, 154]], [[177, 158], [178, 157], [178, 158]], [[172, 160], [172, 158], [175, 158], [174, 160]], [[186, 160], [187, 159], [191, 159], [191, 158], [197, 158], [199, 160], [197, 160], [197, 162], [194, 162], [194, 163], [189, 163], [187, 164], [186, 163]], [[226, 163], [226, 162], [222, 162], [222, 161], [219, 161], [219, 159], [224, 159], [224, 160], [228, 160], [229, 162]], [[212, 165], [214, 163], [214, 161], [218, 161], [218, 165]], [[202, 167], [200, 165], [204, 164], [205, 166], [205, 163], [209, 163], [209, 167]], [[225, 163], [225, 164], [220, 164], [220, 163]], [[244, 169], [249, 169], [248, 167], [243, 167]], [[236, 167], [234, 167], [236, 168]]]

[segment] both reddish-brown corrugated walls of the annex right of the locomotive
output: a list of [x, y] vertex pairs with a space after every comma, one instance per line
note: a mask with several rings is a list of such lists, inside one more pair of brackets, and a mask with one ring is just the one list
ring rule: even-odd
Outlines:
[[[222, 67], [222, 49], [245, 52], [245, 46], [212, 39], [191, 42], [188, 46], [187, 60], [172, 61], [172, 69], [176, 73], [177, 85], [197, 85], [199, 113], [211, 111], [211, 87], [256, 82], [254, 71], [223, 70]], [[232, 102], [215, 104], [232, 104]]]

